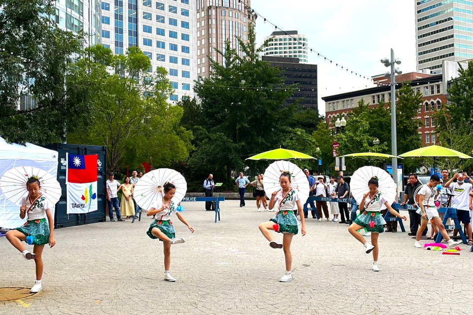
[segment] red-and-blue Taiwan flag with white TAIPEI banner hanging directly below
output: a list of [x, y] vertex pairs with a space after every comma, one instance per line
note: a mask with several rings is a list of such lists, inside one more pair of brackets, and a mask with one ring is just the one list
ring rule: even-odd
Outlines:
[[68, 214], [88, 213], [97, 207], [97, 160], [98, 155], [66, 154], [66, 185], [68, 190]]

